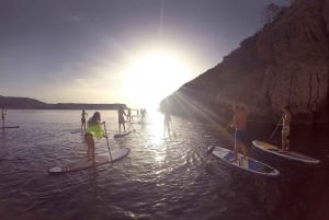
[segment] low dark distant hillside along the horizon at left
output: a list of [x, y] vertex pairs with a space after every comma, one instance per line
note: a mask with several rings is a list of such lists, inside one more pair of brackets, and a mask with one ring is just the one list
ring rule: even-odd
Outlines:
[[0, 106], [16, 109], [117, 109], [125, 104], [86, 104], [86, 103], [57, 103], [47, 104], [30, 97], [11, 97], [0, 95]]

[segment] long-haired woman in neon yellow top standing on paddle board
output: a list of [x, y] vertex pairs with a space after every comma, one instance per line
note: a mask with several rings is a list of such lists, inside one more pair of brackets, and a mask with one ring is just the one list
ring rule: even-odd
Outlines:
[[104, 137], [105, 132], [102, 128], [102, 125], [105, 123], [101, 123], [101, 114], [99, 112], [95, 112], [91, 118], [89, 118], [87, 123], [87, 132], [84, 135], [84, 140], [87, 142], [88, 149], [87, 149], [87, 157], [88, 161], [94, 161], [94, 139], [95, 137], [98, 140], [102, 139]]

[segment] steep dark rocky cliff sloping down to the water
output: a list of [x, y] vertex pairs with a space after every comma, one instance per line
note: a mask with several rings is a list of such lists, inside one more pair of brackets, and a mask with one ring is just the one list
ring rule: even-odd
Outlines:
[[290, 106], [294, 121], [327, 121], [328, 83], [329, 0], [296, 0], [161, 108], [220, 120], [238, 102], [258, 120], [274, 121]]

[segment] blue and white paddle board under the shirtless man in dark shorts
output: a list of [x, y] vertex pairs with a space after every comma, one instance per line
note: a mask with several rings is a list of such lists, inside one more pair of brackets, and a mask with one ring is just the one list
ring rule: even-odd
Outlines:
[[232, 162], [234, 160], [234, 151], [222, 148], [219, 146], [208, 148], [207, 152], [212, 153], [214, 157], [219, 159], [225, 164], [228, 164], [231, 167], [237, 167], [239, 170], [268, 176], [268, 177], [276, 177], [280, 175], [280, 172], [260, 161], [257, 161], [252, 158], [242, 159], [242, 155], [238, 155], [238, 160]]

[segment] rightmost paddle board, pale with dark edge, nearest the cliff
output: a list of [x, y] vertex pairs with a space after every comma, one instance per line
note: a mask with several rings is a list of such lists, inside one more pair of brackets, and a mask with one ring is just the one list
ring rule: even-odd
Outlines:
[[305, 154], [302, 154], [298, 152], [281, 150], [279, 147], [263, 142], [263, 141], [253, 140], [252, 144], [260, 150], [263, 150], [269, 153], [273, 153], [275, 155], [279, 155], [279, 157], [282, 157], [282, 158], [285, 158], [288, 160], [304, 162], [306, 164], [318, 164], [320, 162], [317, 159], [310, 158], [308, 155], [305, 155]]

